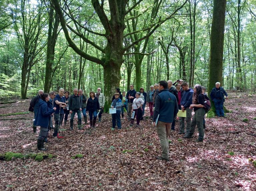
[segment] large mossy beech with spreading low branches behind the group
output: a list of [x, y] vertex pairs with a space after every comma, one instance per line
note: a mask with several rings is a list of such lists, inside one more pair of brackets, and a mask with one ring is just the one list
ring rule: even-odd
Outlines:
[[[95, 13], [97, 14], [99, 21], [104, 28], [105, 33], [100, 33], [96, 31], [89, 30], [88, 28], [84, 27], [83, 25], [79, 24], [77, 22], [77, 18], [73, 16], [73, 12], [67, 2], [65, 2], [65, 9], [63, 9], [60, 4], [59, 0], [52, 0], [55, 11], [59, 15], [60, 24], [63, 29], [63, 32], [65, 34], [65, 37], [67, 39], [67, 42], [73, 50], [84, 57], [85, 59], [95, 62], [97, 64], [100, 64], [103, 66], [103, 73], [104, 73], [104, 93], [106, 96], [106, 107], [105, 111], [108, 109], [107, 106], [111, 103], [111, 97], [112, 94], [115, 92], [115, 88], [119, 87], [120, 84], [120, 67], [124, 61], [123, 55], [124, 54], [144, 54], [142, 52], [138, 52], [141, 50], [137, 50], [136, 52], [126, 52], [130, 50], [131, 48], [134, 48], [138, 46], [139, 43], [141, 43], [143, 40], [149, 38], [155, 30], [163, 24], [168, 19], [171, 19], [177, 12], [180, 10], [187, 2], [188, 0], [184, 1], [184, 3], [180, 3], [180, 6], [177, 6], [177, 8], [169, 15], [164, 15], [162, 18], [159, 16], [158, 20], [155, 22], [149, 22], [148, 26], [144, 28], [143, 30], [137, 30], [131, 32], [131, 34], [126, 36], [130, 36], [133, 34], [140, 34], [138, 35], [137, 40], [134, 40], [131, 44], [129, 44], [127, 47], [123, 46], [124, 41], [124, 30], [126, 28], [125, 21], [127, 19], [129, 20], [130, 12], [137, 9], [137, 6], [139, 4], [143, 4], [143, 0], [139, 1], [129, 1], [129, 0], [108, 0], [107, 2], [104, 2], [104, 0], [101, 0], [101, 3], [99, 3], [98, 0], [91, 0], [91, 5], [94, 8]], [[162, 2], [162, 0], [154, 0], [153, 2], [148, 2], [148, 5], [153, 5], [151, 7], [156, 8], [154, 5], [160, 6], [159, 2]], [[171, 1], [170, 1], [171, 4]], [[162, 4], [161, 4], [162, 5]], [[78, 9], [79, 6], [77, 6]], [[108, 10], [108, 11], [107, 11]], [[71, 27], [69, 24], [67, 24], [64, 14], [69, 17], [74, 23], [74, 28]], [[142, 14], [138, 14], [136, 17], [142, 16]], [[88, 31], [89, 33], [96, 35], [99, 37], [104, 37], [106, 39], [106, 44], [104, 47], [97, 45], [95, 42], [91, 41], [90, 39], [86, 38], [83, 35], [83, 32], [79, 29], [81, 27], [83, 30]], [[83, 39], [86, 43], [90, 44], [94, 48], [100, 50], [103, 54], [101, 58], [92, 56], [85, 51], [81, 50], [71, 39], [69, 30]]]

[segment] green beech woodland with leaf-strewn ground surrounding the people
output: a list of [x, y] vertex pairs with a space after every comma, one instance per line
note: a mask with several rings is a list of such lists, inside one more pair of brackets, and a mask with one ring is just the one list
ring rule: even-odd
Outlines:
[[[156, 160], [149, 106], [138, 126], [124, 110], [120, 131], [108, 109], [116, 88], [179, 79], [208, 95], [220, 82], [225, 116], [210, 99], [201, 143], [177, 119]], [[102, 121], [77, 113], [69, 129], [69, 115], [42, 151], [28, 108], [60, 88], [101, 88]], [[255, 191], [255, 90], [256, 0], [0, 0], [0, 190]]]

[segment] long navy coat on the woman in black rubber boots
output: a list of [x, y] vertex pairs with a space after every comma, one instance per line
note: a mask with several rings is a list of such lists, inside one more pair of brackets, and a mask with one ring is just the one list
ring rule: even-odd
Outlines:
[[50, 115], [54, 113], [54, 109], [51, 104], [48, 104], [42, 99], [39, 100], [39, 109], [35, 118], [36, 126], [48, 128]]

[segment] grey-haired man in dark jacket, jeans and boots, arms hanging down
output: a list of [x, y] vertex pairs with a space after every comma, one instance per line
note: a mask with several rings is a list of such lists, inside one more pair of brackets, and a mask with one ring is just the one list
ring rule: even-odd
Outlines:
[[82, 99], [78, 95], [78, 89], [75, 88], [73, 90], [74, 94], [70, 96], [68, 100], [68, 108], [69, 108], [69, 113], [71, 114], [70, 116], [70, 129], [73, 130], [73, 123], [74, 123], [74, 117], [75, 113], [77, 113], [77, 127], [80, 130], [81, 129], [81, 124], [82, 124], [82, 117], [81, 117], [81, 111], [82, 111]]

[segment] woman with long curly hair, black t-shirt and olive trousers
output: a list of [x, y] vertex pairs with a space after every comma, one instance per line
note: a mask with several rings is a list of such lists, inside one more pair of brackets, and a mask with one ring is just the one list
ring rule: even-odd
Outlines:
[[190, 131], [183, 136], [184, 138], [192, 138], [192, 135], [195, 132], [196, 126], [198, 128], [199, 136], [196, 142], [203, 142], [204, 139], [204, 128], [203, 128], [203, 120], [205, 116], [205, 109], [204, 109], [204, 94], [202, 91], [202, 87], [200, 85], [196, 85], [194, 87], [194, 94], [193, 94], [193, 101], [190, 105], [189, 109], [194, 108], [194, 116], [191, 122]]

